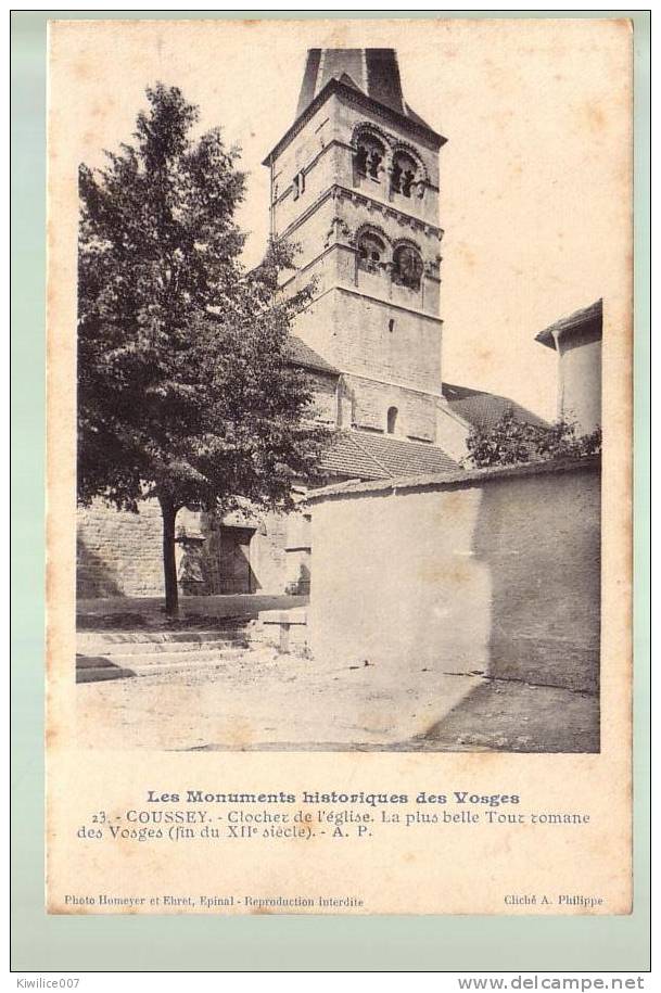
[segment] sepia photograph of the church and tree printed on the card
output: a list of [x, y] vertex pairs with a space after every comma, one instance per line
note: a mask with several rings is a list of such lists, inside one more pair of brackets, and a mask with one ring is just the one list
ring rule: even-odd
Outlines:
[[85, 97], [81, 747], [599, 752], [623, 125], [542, 27]]

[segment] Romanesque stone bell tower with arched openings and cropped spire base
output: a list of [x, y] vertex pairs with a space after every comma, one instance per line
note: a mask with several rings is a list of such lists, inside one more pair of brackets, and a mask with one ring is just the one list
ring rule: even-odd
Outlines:
[[296, 118], [265, 160], [271, 234], [315, 280], [296, 334], [341, 372], [335, 423], [438, 444], [438, 152], [393, 49], [310, 49]]

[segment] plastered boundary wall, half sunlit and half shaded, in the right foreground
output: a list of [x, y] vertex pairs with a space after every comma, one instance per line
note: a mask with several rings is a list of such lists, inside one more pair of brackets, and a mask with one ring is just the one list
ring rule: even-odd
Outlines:
[[329, 487], [310, 506], [315, 657], [596, 692], [596, 462]]

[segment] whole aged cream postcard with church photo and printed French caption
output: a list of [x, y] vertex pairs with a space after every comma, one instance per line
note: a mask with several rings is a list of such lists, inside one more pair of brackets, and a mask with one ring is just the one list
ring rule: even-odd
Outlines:
[[631, 912], [632, 37], [50, 23], [50, 914]]

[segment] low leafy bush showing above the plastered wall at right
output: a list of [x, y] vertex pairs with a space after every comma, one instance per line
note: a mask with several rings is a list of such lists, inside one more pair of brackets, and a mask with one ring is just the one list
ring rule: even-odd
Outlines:
[[467, 461], [480, 469], [546, 459], [579, 459], [601, 451], [601, 429], [579, 436], [576, 424], [571, 421], [530, 424], [514, 418], [508, 409], [495, 424], [471, 428], [466, 444]]

